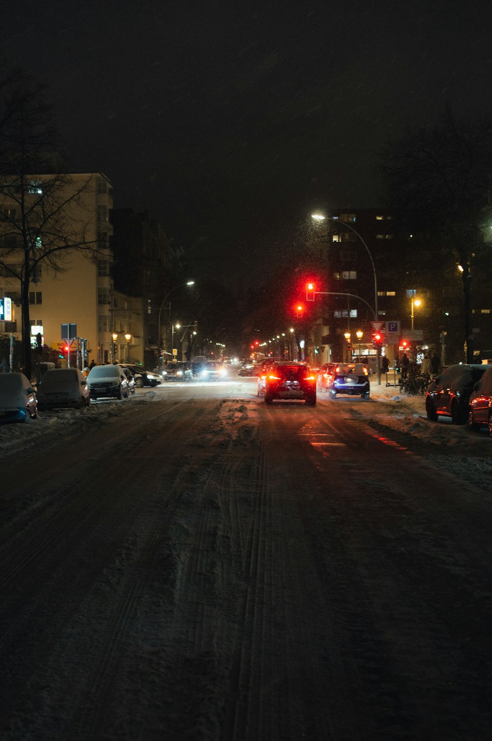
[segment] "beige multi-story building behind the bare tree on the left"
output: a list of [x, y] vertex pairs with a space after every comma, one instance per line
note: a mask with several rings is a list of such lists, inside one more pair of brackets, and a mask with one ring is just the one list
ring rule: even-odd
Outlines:
[[[44, 183], [53, 182], [53, 176], [33, 175], [24, 178], [30, 183], [26, 198], [33, 199], [33, 208], [54, 209], [53, 195], [47, 204], [41, 204]], [[0, 191], [0, 296], [13, 299], [11, 322], [0, 322], [0, 332], [21, 336], [21, 293], [23, 276], [21, 204], [15, 182], [4, 185]], [[58, 233], [50, 239], [66, 245], [41, 260], [30, 276], [30, 324], [42, 327], [44, 344], [56, 349], [61, 346], [61, 325], [75, 324], [77, 336], [87, 340], [88, 358], [82, 362], [109, 362], [114, 356], [112, 333], [131, 334], [141, 338], [141, 306], [139, 315], [133, 311], [121, 312], [115, 306], [112, 279], [112, 250], [109, 238], [112, 226], [112, 184], [102, 173], [71, 173], [66, 176], [56, 195], [64, 203], [64, 220], [58, 220]], [[38, 205], [36, 205], [36, 201]], [[40, 249], [44, 247], [42, 219], [37, 215], [32, 224], [39, 224]], [[3, 247], [3, 249], [2, 249]], [[35, 253], [33, 253], [36, 256]], [[124, 302], [124, 299], [118, 299]], [[128, 305], [135, 299], [128, 299]], [[119, 307], [118, 307], [119, 308]], [[125, 319], [122, 319], [125, 316]], [[139, 316], [137, 320], [136, 317]], [[124, 349], [128, 344], [123, 340]], [[141, 339], [132, 348], [132, 358], [141, 359]]]

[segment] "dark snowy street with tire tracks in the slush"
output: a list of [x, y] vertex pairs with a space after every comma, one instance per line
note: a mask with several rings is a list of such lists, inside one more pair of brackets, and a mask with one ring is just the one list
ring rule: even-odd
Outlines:
[[489, 738], [492, 440], [397, 391], [2, 426], [0, 740]]

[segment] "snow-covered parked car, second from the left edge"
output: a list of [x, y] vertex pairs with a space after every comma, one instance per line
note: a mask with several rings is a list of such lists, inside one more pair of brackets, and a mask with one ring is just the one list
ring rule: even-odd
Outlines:
[[36, 389], [38, 409], [81, 409], [90, 405], [87, 379], [78, 368], [53, 368], [43, 373]]

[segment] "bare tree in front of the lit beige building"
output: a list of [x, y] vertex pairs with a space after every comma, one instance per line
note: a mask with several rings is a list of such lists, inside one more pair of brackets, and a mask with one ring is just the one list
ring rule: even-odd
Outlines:
[[53, 113], [44, 88], [5, 63], [0, 76], [0, 267], [19, 282], [24, 372], [30, 377], [30, 285], [41, 265], [53, 273], [65, 270], [72, 250], [97, 254], [97, 244], [87, 239], [95, 216], [84, 198], [92, 183], [75, 185], [53, 154]]

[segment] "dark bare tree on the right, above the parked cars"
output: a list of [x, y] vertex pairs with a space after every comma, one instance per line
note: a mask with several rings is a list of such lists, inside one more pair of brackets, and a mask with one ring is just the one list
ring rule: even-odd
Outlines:
[[407, 129], [381, 153], [388, 200], [402, 222], [442, 239], [462, 268], [466, 359], [474, 358], [472, 267], [491, 232], [492, 124], [457, 122], [447, 110], [439, 124]]

